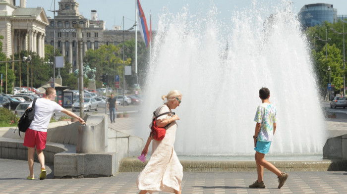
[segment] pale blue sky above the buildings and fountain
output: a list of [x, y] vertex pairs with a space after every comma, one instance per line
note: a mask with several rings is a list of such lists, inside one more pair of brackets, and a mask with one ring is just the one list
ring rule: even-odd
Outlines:
[[[56, 10], [59, 8], [56, 0]], [[76, 0], [79, 3], [79, 12], [85, 18], [90, 19], [91, 10], [97, 10], [98, 19], [106, 21], [106, 28], [112, 29], [113, 25], [121, 26], [124, 16], [124, 29], [130, 28], [135, 22], [136, 0]], [[190, 13], [209, 9], [213, 2], [218, 10], [217, 18], [224, 21], [231, 17], [233, 11], [250, 7], [253, 1], [278, 2], [283, 0], [140, 0], [145, 13], [148, 28], [150, 13], [152, 14], [152, 30], [157, 29], [159, 15], [166, 9], [171, 13], [182, 12], [183, 7], [188, 7]], [[347, 0], [291, 0], [293, 11], [298, 13], [305, 4], [329, 3], [338, 9], [338, 15], [347, 15]], [[53, 18], [54, 0], [26, 0], [26, 7], [43, 7], [47, 16]], [[202, 7], [202, 8], [201, 8]], [[206, 8], [207, 7], [207, 8]]]

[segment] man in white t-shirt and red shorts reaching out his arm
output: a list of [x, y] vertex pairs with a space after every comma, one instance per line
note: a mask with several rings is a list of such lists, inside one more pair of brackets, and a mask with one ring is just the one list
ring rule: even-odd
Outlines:
[[[28, 165], [29, 165], [29, 176], [27, 179], [34, 178], [34, 153], [36, 146], [36, 154], [41, 164], [40, 180], [46, 179], [46, 167], [45, 167], [45, 155], [43, 149], [46, 147], [47, 139], [47, 127], [51, 121], [53, 112], [63, 112], [70, 117], [78, 119], [81, 124], [84, 124], [84, 120], [77, 116], [75, 113], [66, 110], [61, 107], [54, 100], [57, 97], [56, 90], [54, 88], [46, 89], [45, 98], [37, 98], [35, 102], [35, 116], [31, 122], [29, 128], [25, 132], [24, 146], [28, 147]], [[31, 107], [33, 102], [28, 106]]]

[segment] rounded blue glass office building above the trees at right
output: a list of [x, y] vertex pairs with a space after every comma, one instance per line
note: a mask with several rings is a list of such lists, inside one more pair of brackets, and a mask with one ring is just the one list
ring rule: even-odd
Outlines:
[[337, 22], [338, 10], [332, 4], [315, 3], [304, 5], [298, 16], [301, 25], [304, 28], [319, 25], [328, 21], [329, 23]]

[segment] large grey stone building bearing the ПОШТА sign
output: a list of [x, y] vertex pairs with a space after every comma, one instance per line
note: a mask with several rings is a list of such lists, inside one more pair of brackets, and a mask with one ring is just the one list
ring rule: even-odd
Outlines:
[[[77, 69], [79, 64], [75, 24], [82, 25], [82, 56], [88, 49], [98, 49], [101, 45], [122, 43], [123, 31], [119, 28], [106, 30], [105, 21], [98, 20], [96, 10], [91, 10], [91, 19], [89, 20], [79, 13], [79, 3], [75, 0], [60, 0], [58, 3], [57, 16], [48, 19], [50, 25], [46, 27], [45, 43], [55, 45], [55, 48], [60, 50], [64, 60], [72, 64], [70, 72]], [[132, 38], [135, 38], [134, 31], [124, 32], [124, 40], [131, 40]], [[139, 32], [137, 40], [141, 40]]]

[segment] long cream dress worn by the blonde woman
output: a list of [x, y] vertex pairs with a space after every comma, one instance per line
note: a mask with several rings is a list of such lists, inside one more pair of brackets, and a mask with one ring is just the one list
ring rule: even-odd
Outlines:
[[[169, 111], [168, 106], [165, 104], [156, 110], [157, 115]], [[167, 114], [158, 117], [157, 120], [171, 117], [170, 114]], [[136, 181], [139, 190], [146, 190], [150, 194], [154, 191], [170, 193], [174, 193], [174, 190], [179, 191], [183, 178], [183, 167], [173, 149], [176, 128], [177, 124], [172, 122], [166, 130], [166, 135], [162, 141], [153, 139], [151, 158]]]

